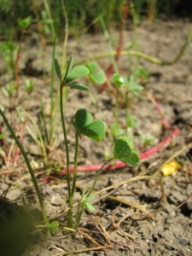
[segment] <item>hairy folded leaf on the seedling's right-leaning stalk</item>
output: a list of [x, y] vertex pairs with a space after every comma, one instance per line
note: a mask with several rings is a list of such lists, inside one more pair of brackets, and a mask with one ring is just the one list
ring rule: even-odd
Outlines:
[[133, 142], [128, 137], [119, 137], [114, 145], [114, 158], [130, 166], [138, 166], [140, 158], [137, 150], [132, 150]]

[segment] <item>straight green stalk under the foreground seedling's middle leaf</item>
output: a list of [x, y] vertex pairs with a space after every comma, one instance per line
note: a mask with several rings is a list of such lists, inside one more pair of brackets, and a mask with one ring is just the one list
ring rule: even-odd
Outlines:
[[69, 201], [68, 201], [68, 207], [70, 207], [70, 209], [68, 210], [68, 227], [73, 229], [73, 196], [74, 196], [74, 191], [75, 191], [75, 185], [76, 185], [76, 180], [77, 180], [77, 166], [78, 166], [78, 149], [79, 149], [79, 136], [78, 133], [76, 132], [75, 134], [75, 154], [74, 154], [74, 168], [73, 168], [73, 185], [72, 185], [72, 191], [71, 191], [71, 195], [69, 197]]

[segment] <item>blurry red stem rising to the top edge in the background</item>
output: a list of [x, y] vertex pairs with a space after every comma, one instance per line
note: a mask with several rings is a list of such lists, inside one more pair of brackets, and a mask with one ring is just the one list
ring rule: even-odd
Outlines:
[[[120, 51], [121, 51], [122, 45], [123, 45], [123, 32], [125, 30], [125, 21], [126, 21], [128, 11], [129, 11], [129, 3], [130, 3], [130, 0], [126, 0], [126, 3], [123, 7], [123, 20], [122, 20], [122, 25], [121, 25], [120, 32], [119, 32], [119, 44], [118, 44], [119, 46], [118, 46], [118, 49], [116, 50], [116, 55], [115, 55], [116, 63], [119, 61]], [[107, 72], [108, 79], [113, 74], [113, 70], [114, 70], [113, 64], [111, 64], [110, 67], [108, 67], [108, 72]], [[104, 84], [101, 85], [100, 91], [104, 90], [106, 84], [107, 83], [105, 82]]]

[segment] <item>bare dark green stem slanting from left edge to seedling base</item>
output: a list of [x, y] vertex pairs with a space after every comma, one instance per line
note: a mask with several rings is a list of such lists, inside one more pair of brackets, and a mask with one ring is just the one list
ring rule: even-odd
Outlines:
[[46, 223], [47, 226], [49, 226], [47, 214], [46, 214], [45, 207], [44, 207], [44, 200], [43, 200], [43, 197], [41, 195], [41, 191], [40, 191], [40, 189], [38, 187], [38, 182], [37, 182], [35, 174], [34, 174], [34, 172], [32, 170], [32, 166], [30, 164], [30, 161], [29, 161], [29, 159], [28, 159], [28, 157], [26, 155], [26, 152], [25, 152], [22, 144], [20, 143], [19, 139], [15, 135], [15, 132], [13, 131], [11, 126], [9, 125], [9, 121], [8, 121], [8, 119], [6, 119], [6, 117], [5, 117], [5, 115], [4, 115], [4, 113], [3, 113], [1, 108], [0, 108], [0, 114], [2, 115], [3, 120], [5, 122], [5, 125], [8, 127], [11, 136], [15, 139], [15, 143], [17, 143], [17, 146], [20, 148], [20, 152], [21, 152], [21, 154], [23, 155], [23, 157], [24, 157], [24, 159], [26, 161], [26, 166], [28, 167], [28, 170], [29, 170], [30, 175], [32, 177], [32, 183], [34, 184], [36, 193], [38, 195], [38, 201], [39, 201], [39, 204], [40, 204], [40, 207], [41, 207], [41, 211], [42, 211], [42, 215], [43, 215], [43, 218], [44, 218], [44, 222]]

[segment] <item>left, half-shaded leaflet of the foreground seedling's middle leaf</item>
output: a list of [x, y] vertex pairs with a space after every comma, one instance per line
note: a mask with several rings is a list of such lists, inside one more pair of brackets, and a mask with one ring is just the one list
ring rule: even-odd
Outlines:
[[92, 121], [92, 114], [89, 113], [89, 111], [87, 111], [85, 108], [80, 108], [75, 113], [75, 124], [78, 126], [80, 132], [86, 125], [90, 125]]

